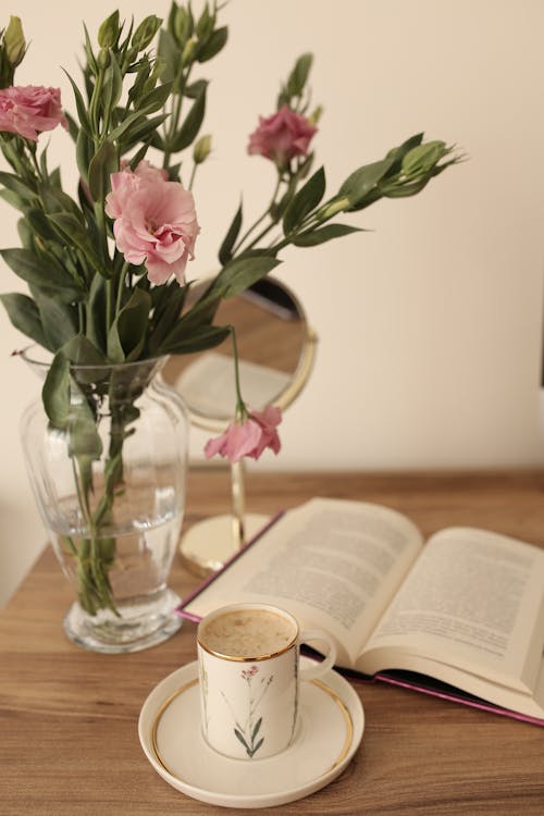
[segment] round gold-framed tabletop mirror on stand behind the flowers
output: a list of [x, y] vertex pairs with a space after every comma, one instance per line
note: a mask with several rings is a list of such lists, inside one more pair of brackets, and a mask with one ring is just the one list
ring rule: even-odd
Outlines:
[[[194, 286], [197, 299], [208, 282]], [[287, 408], [306, 384], [313, 363], [317, 337], [299, 300], [284, 283], [267, 276], [240, 295], [221, 301], [217, 325], [234, 325], [242, 394], [246, 405]], [[232, 343], [199, 354], [173, 356], [164, 380], [182, 395], [197, 428], [221, 432], [233, 420], [236, 406]], [[262, 527], [267, 517], [246, 515], [244, 466], [231, 466], [232, 514], [194, 524], [182, 539], [186, 566], [206, 576], [220, 569]]]

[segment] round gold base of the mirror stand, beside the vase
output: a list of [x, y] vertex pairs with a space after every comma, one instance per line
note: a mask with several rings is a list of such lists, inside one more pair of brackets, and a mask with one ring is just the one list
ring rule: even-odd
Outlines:
[[[250, 541], [268, 520], [268, 516], [260, 514], [245, 516], [245, 541]], [[217, 572], [236, 551], [233, 517], [228, 515], [198, 521], [182, 536], [180, 544], [183, 564], [199, 578]]]

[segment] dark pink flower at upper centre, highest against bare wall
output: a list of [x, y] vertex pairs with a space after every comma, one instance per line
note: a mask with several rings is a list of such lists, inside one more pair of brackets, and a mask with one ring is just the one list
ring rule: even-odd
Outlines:
[[317, 129], [306, 116], [284, 104], [268, 119], [259, 116], [259, 126], [249, 137], [247, 151], [285, 165], [295, 156], [306, 156]]

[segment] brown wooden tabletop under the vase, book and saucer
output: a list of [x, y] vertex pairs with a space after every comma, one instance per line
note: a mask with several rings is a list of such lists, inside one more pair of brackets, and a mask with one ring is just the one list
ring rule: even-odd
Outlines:
[[[252, 474], [248, 509], [272, 514], [313, 495], [380, 502], [425, 534], [475, 524], [544, 546], [544, 473]], [[186, 523], [225, 511], [221, 472], [195, 472]], [[22, 543], [23, 545], [23, 543]], [[180, 562], [171, 585], [195, 583]], [[151, 689], [196, 657], [195, 626], [133, 655], [67, 642], [71, 590], [47, 548], [0, 616], [0, 815], [166, 816], [240, 813], [166, 784], [138, 742]], [[544, 813], [544, 729], [381, 684], [351, 681], [367, 727], [346, 771], [280, 808], [287, 814], [527, 816]]]

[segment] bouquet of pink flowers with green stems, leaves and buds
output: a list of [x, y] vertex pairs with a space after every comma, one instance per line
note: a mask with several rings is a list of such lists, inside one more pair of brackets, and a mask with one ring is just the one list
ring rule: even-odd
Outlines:
[[[20, 212], [21, 238], [1, 256], [28, 286], [28, 294], [1, 299], [13, 325], [51, 357], [42, 406], [49, 431], [67, 440], [86, 532], [64, 543], [89, 615], [118, 614], [110, 582], [116, 541], [108, 531], [147, 385], [146, 376], [134, 381], [134, 364], [211, 348], [228, 335], [235, 343], [232, 326], [214, 322], [219, 304], [270, 273], [286, 246], [307, 249], [358, 232], [338, 217], [384, 197], [413, 196], [458, 161], [444, 141], [417, 134], [327, 193], [324, 169], [313, 168], [321, 109], [310, 110], [312, 57], [302, 54], [247, 146], [274, 164], [274, 188], [255, 218], [247, 220], [242, 205], [235, 210], [219, 244], [219, 271], [194, 301], [194, 190], [212, 150], [201, 133], [209, 83], [198, 71], [226, 45], [219, 17], [218, 3], [195, 14], [190, 3], [173, 2], [165, 21], [151, 14], [136, 24], [112, 13], [97, 41], [84, 27], [82, 76], [69, 76], [72, 113], [59, 89], [16, 85], [27, 49], [21, 21], [12, 16], [1, 33], [0, 149], [8, 169], [0, 196]], [[64, 189], [48, 159], [44, 134], [57, 127], [72, 137], [75, 190]], [[98, 376], [108, 366], [114, 375]], [[233, 417], [208, 455], [236, 461], [280, 449], [279, 409], [252, 411], [238, 387]]]

